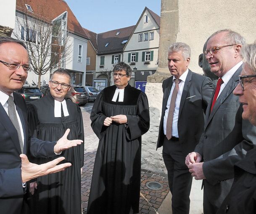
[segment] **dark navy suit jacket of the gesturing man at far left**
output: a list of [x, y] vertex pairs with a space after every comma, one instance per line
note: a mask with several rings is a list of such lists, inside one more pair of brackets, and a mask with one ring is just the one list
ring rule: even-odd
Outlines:
[[[24, 132], [24, 154], [31, 152], [36, 157], [54, 156], [55, 142], [41, 141], [29, 135], [26, 104], [24, 99], [13, 93], [14, 103], [21, 119]], [[24, 188], [21, 180], [21, 149], [18, 134], [10, 118], [0, 104], [0, 213], [20, 214]]]

